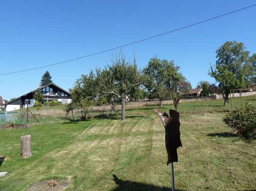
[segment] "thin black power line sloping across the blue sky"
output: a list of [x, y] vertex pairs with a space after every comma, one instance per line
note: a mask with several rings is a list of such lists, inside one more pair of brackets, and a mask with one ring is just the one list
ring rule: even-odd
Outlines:
[[126, 44], [126, 45], [117, 46], [117, 47], [110, 48], [110, 49], [107, 49], [107, 50], [104, 50], [104, 51], [100, 51], [100, 52], [98, 52], [98, 53], [92, 53], [92, 54], [88, 54], [88, 55], [86, 55], [86, 56], [74, 58], [74, 59], [67, 60], [67, 61], [61, 61], [61, 62], [58, 62], [58, 63], [49, 64], [49, 65], [45, 65], [45, 66], [41, 66], [41, 67], [37, 67], [37, 68], [24, 69], [24, 70], [20, 70], [20, 71], [16, 71], [16, 72], [4, 73], [4, 74], [0, 74], [0, 76], [8, 75], [8, 74], [15, 74], [15, 73], [19, 73], [19, 72], [25, 72], [25, 71], [34, 70], [34, 69], [41, 69], [41, 68], [45, 68], [45, 67], [49, 67], [49, 66], [54, 66], [54, 65], [66, 63], [66, 62], [69, 62], [69, 61], [79, 60], [79, 59], [82, 59], [82, 58], [85, 58], [85, 57], [89, 57], [89, 56], [93, 56], [93, 55], [96, 55], [96, 54], [105, 53], [105, 52], [108, 52], [108, 51], [111, 51], [111, 50], [115, 50], [115, 49], [117, 49], [117, 48], [122, 48], [122, 47], [124, 47], [124, 46], [129, 46], [129, 45], [136, 44], [136, 43], [139, 43], [139, 42], [142, 42], [142, 41], [145, 41], [145, 40], [149, 40], [149, 39], [151, 39], [151, 38], [156, 38], [156, 37], [159, 37], [159, 36], [163, 36], [163, 35], [169, 34], [169, 33], [171, 33], [171, 32], [180, 31], [180, 30], [182, 30], [182, 29], [186, 29], [186, 28], [188, 28], [188, 27], [191, 27], [191, 26], [194, 26], [194, 25], [197, 25], [197, 24], [200, 24], [200, 23], [205, 23], [205, 22], [207, 22], [207, 21], [211, 21], [211, 20], [213, 20], [213, 19], [216, 19], [216, 18], [225, 16], [225, 15], [230, 15], [230, 14], [232, 14], [232, 13], [235, 13], [235, 12], [238, 12], [238, 11], [241, 11], [241, 10], [244, 10], [244, 9], [247, 9], [247, 8], [251, 8], [251, 7], [254, 7], [254, 6], [256, 6], [256, 4], [251, 5], [251, 6], [249, 6], [249, 7], [246, 7], [246, 8], [240, 8], [240, 9], [238, 9], [238, 10], [235, 10], [235, 11], [232, 11], [232, 12], [229, 12], [229, 13], [225, 13], [225, 14], [223, 14], [223, 15], [215, 16], [215, 17], [213, 17], [213, 18], [210, 18], [210, 19], [207, 19], [207, 20], [204, 20], [204, 21], [200, 21], [200, 22], [198, 22], [198, 23], [190, 24], [190, 25], [187, 25], [187, 26], [185, 26], [185, 27], [182, 27], [182, 28], [179, 28], [179, 29], [175, 29], [175, 30], [173, 30], [173, 31], [168, 31], [168, 32], [165, 32], [165, 33], [162, 33], [162, 34], [158, 34], [158, 35], [156, 35], [156, 36], [152, 36], [152, 37], [149, 37], [149, 38], [144, 38], [144, 39], [141, 39], [141, 40], [138, 40], [138, 41], [135, 41], [135, 42]]

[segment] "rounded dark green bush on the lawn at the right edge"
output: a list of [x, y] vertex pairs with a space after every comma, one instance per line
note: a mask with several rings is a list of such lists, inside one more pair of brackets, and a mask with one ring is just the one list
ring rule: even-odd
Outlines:
[[240, 137], [256, 138], [256, 107], [249, 103], [226, 114], [223, 122], [236, 131]]

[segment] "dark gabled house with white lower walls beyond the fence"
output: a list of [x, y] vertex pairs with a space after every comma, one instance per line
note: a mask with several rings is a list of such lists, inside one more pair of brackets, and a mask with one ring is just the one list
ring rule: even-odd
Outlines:
[[8, 103], [4, 104], [5, 111], [13, 111], [20, 108], [25, 108], [26, 100], [28, 102], [28, 107], [32, 107], [35, 103], [33, 99], [33, 94], [35, 92], [41, 92], [43, 95], [43, 103], [47, 100], [50, 101], [61, 101], [62, 104], [67, 104], [71, 102], [70, 93], [66, 90], [60, 88], [58, 85], [50, 83], [44, 86], [37, 88], [36, 90], [26, 93], [23, 96], [18, 97]]

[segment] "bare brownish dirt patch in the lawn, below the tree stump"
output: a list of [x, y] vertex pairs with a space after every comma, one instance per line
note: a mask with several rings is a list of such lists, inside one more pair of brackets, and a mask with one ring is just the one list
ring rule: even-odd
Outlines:
[[[53, 191], [64, 191], [71, 183], [71, 180], [55, 180], [57, 185], [52, 188]], [[39, 183], [34, 183], [28, 187], [26, 191], [51, 191], [51, 186], [48, 184], [49, 180], [44, 180]]]

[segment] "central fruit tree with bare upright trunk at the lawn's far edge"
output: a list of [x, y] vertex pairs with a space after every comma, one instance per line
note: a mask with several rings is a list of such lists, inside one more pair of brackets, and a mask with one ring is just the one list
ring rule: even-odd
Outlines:
[[121, 100], [122, 120], [125, 120], [125, 100], [130, 92], [140, 84], [143, 84], [143, 78], [137, 69], [135, 56], [133, 61], [126, 61], [124, 54], [111, 59], [111, 65], [105, 69], [97, 69], [97, 87], [99, 93], [116, 96]]

